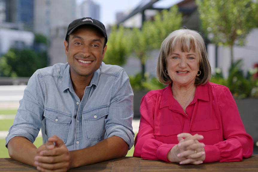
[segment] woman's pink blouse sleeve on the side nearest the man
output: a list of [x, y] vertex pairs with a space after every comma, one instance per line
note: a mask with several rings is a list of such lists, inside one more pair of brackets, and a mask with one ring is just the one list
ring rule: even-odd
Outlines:
[[154, 137], [155, 100], [153, 99], [155, 98], [153, 97], [151, 99], [145, 95], [142, 98], [140, 105], [141, 119], [139, 132], [135, 138], [133, 156], [169, 162], [167, 160], [167, 154], [175, 144], [164, 144], [157, 141]]

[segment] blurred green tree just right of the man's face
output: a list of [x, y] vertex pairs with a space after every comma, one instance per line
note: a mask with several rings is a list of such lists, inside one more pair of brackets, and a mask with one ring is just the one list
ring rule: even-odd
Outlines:
[[127, 32], [128, 29], [125, 29], [122, 25], [118, 28], [114, 25], [111, 28], [103, 62], [120, 66], [126, 63], [127, 57], [130, 54], [130, 42], [128, 42]]

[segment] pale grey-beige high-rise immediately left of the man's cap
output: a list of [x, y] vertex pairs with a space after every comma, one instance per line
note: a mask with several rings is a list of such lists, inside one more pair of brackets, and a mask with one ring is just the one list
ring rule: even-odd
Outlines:
[[48, 38], [49, 65], [66, 63], [64, 40], [69, 23], [75, 20], [75, 0], [35, 0], [34, 33]]

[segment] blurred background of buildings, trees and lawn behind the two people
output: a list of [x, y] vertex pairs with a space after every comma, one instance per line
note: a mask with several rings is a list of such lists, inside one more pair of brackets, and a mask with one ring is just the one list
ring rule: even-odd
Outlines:
[[136, 120], [142, 96], [165, 87], [155, 78], [163, 39], [180, 28], [200, 32], [210, 81], [230, 89], [257, 154], [257, 11], [257, 0], [0, 0], [0, 144], [29, 77], [39, 68], [66, 63], [69, 23], [92, 17], [107, 29], [103, 61], [122, 66], [130, 77]]

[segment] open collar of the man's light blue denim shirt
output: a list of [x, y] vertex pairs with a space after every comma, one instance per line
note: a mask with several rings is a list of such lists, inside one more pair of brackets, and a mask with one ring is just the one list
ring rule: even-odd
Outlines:
[[[92, 79], [89, 83], [89, 86], [87, 86], [87, 87], [91, 87], [92, 85], [98, 86], [100, 70], [101, 70], [101, 66], [99, 67], [98, 70], [96, 70], [94, 72]], [[64, 71], [62, 87], [63, 87], [63, 91], [65, 91], [66, 89], [69, 89], [70, 92], [75, 93], [75, 91], [72, 87], [72, 80], [71, 80], [71, 75], [70, 75], [70, 65], [69, 64], [66, 66], [66, 69]]]

